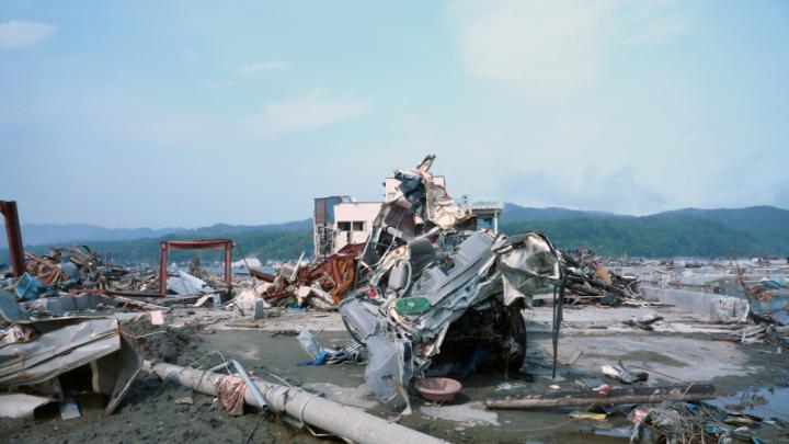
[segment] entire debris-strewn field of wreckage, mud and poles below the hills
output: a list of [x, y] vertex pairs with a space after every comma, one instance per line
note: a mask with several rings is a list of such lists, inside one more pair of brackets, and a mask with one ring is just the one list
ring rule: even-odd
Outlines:
[[[7, 442], [788, 442], [789, 264], [601, 258], [395, 171], [365, 242], [231, 272], [89, 246], [0, 271]], [[171, 249], [225, 252], [224, 273]], [[245, 259], [244, 259], [245, 260]]]

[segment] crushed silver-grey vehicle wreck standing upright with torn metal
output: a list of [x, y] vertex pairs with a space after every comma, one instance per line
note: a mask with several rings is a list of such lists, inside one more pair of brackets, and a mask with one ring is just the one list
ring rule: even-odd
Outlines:
[[435, 156], [395, 172], [359, 261], [367, 278], [340, 307], [368, 350], [365, 379], [382, 401], [408, 400], [412, 377], [461, 375], [489, 363], [517, 369], [526, 352], [522, 310], [544, 283], [561, 282], [541, 234], [477, 229], [430, 173]]

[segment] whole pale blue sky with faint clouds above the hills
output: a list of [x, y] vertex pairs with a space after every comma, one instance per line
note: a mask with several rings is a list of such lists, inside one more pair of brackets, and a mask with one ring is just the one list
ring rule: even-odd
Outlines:
[[0, 198], [199, 227], [455, 196], [789, 208], [786, 1], [0, 1]]

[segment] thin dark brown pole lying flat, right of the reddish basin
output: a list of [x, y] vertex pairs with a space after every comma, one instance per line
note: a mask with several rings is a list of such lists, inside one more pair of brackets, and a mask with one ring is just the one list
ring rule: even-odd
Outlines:
[[485, 400], [489, 409], [539, 409], [551, 407], [583, 407], [592, 405], [653, 403], [662, 401], [700, 401], [718, 396], [710, 384], [613, 388], [607, 395], [595, 390], [559, 391], [544, 395], [508, 396]]

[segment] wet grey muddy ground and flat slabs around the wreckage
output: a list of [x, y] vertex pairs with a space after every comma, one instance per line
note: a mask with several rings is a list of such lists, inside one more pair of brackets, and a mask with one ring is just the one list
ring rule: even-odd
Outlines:
[[[630, 310], [630, 311], [629, 311]], [[548, 411], [488, 411], [482, 402], [489, 396], [550, 391], [551, 385], [576, 389], [578, 380], [601, 377], [599, 365], [622, 360], [626, 365], [650, 372], [650, 385], [683, 382], [711, 382], [730, 395], [748, 388], [770, 387], [782, 394], [789, 383], [789, 353], [777, 353], [768, 345], [742, 345], [716, 341], [710, 331], [729, 327], [699, 322], [687, 314], [670, 308], [659, 309], [666, 316], [656, 331], [629, 329], [621, 325], [633, 312], [643, 309], [570, 309], [560, 342], [557, 379], [550, 377], [550, 309], [526, 314], [529, 342], [527, 363], [522, 372], [493, 371], [472, 373], [462, 380], [464, 388], [450, 403], [432, 405], [412, 397], [413, 414], [400, 423], [451, 442], [523, 443], [608, 443], [627, 442], [629, 423], [621, 413], [605, 421], [573, 420], [573, 409]], [[631, 312], [632, 311], [632, 312]], [[346, 405], [389, 419], [397, 411], [379, 405], [364, 385], [364, 366], [297, 366], [308, 360], [294, 338], [302, 327], [317, 333], [323, 346], [351, 341], [336, 314], [316, 315], [284, 312], [260, 322], [260, 328], [238, 328], [227, 312], [174, 310], [168, 315], [170, 327], [153, 327], [147, 317], [126, 323], [126, 330], [149, 337], [147, 358], [179, 365], [211, 366], [221, 360], [208, 355], [219, 351], [239, 360], [256, 376], [274, 380], [276, 375], [294, 385], [323, 394]], [[611, 383], [610, 380], [606, 380]], [[769, 396], [769, 395], [768, 395]], [[9, 442], [317, 442], [306, 432], [254, 411], [231, 417], [210, 397], [174, 384], [163, 384], [155, 376], [140, 375], [116, 413], [104, 417], [103, 400], [95, 396], [78, 398], [82, 417], [64, 421], [57, 405], [41, 411], [34, 423], [7, 422], [0, 428], [0, 441]], [[191, 400], [191, 403], [187, 403]], [[178, 401], [178, 402], [176, 402]], [[734, 398], [723, 398], [732, 403]], [[182, 403], [186, 402], [186, 403]], [[758, 402], [757, 402], [758, 403]], [[769, 409], [768, 407], [769, 406]], [[778, 406], [778, 407], [776, 407]], [[786, 407], [777, 403], [755, 406], [754, 414], [789, 420]], [[765, 410], [768, 409], [768, 410]], [[784, 409], [784, 410], [780, 410]], [[583, 409], [581, 409], [583, 410]], [[786, 430], [765, 428], [765, 442], [789, 441]]]

